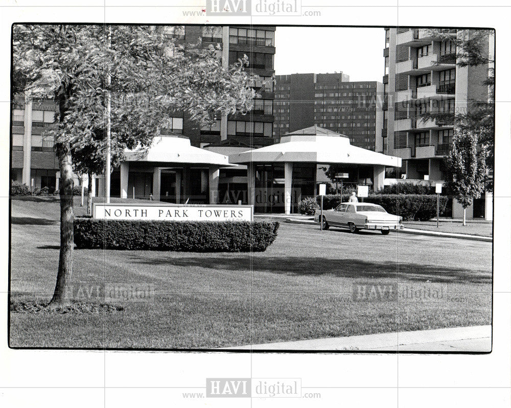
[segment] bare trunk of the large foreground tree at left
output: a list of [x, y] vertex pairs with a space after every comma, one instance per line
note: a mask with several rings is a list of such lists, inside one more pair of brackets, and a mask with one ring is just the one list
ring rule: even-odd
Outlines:
[[73, 273], [73, 167], [71, 146], [58, 143], [57, 157], [60, 167], [60, 254], [55, 292], [49, 307], [62, 307], [71, 303], [69, 283]]

